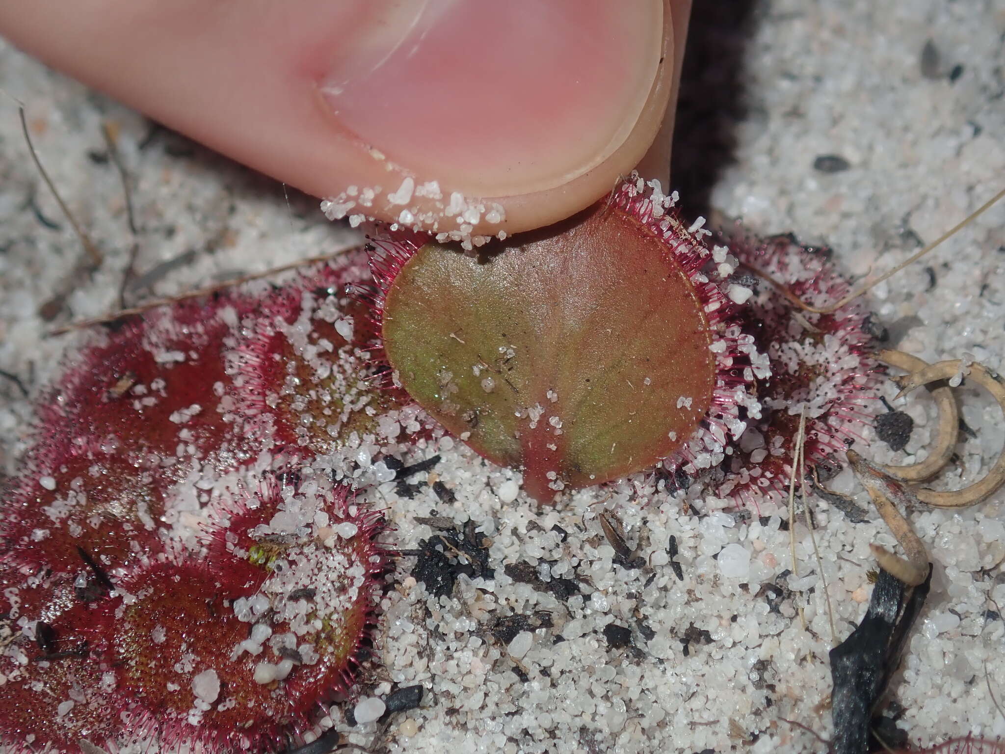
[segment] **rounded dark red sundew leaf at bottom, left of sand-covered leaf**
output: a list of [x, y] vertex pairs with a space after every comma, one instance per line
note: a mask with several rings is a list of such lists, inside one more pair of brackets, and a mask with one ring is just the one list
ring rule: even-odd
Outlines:
[[[247, 564], [229, 564], [224, 575], [197, 564], [165, 564], [131, 580], [124, 589], [136, 598], [115, 600], [115, 625], [105, 651], [115, 668], [116, 697], [132, 724], [157, 732], [167, 746], [182, 741], [237, 743], [246, 731], [269, 739], [293, 722], [289, 705], [274, 688], [252, 680], [258, 657], [234, 648], [248, 638], [249, 625], [229, 601], [254, 593], [261, 574]], [[220, 697], [208, 710], [196, 706], [193, 682], [212, 671]], [[232, 699], [222, 709], [224, 699]], [[134, 706], [135, 703], [135, 706]]]

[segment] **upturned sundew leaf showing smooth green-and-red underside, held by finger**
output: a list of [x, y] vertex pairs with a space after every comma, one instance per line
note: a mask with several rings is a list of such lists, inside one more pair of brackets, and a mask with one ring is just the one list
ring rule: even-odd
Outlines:
[[477, 258], [427, 243], [385, 292], [401, 385], [539, 500], [652, 465], [712, 407], [728, 308], [700, 241], [651, 210], [601, 203]]

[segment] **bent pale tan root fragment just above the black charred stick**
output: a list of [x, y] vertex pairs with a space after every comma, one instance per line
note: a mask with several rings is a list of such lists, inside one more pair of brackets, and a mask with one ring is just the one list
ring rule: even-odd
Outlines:
[[852, 470], [869, 494], [872, 504], [903, 548], [908, 558], [904, 560], [876, 544], [869, 546], [872, 555], [879, 567], [891, 576], [909, 586], [918, 586], [929, 575], [929, 555], [925, 550], [925, 544], [915, 534], [915, 530], [897, 508], [897, 504], [908, 507], [917, 503], [917, 500], [900, 483], [854, 450], [848, 450], [848, 462], [851, 463]]

